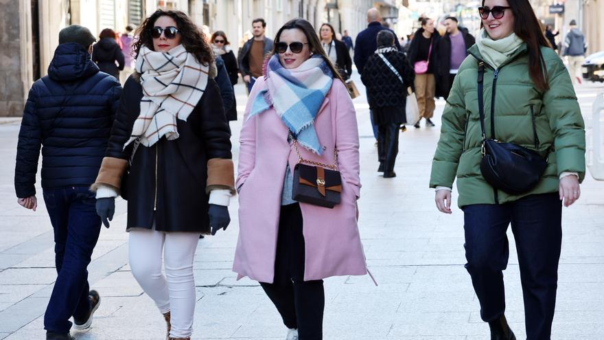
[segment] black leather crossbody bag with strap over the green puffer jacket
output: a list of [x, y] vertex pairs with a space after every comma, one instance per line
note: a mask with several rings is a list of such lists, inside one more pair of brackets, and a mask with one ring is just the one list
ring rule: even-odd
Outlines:
[[517, 144], [504, 143], [495, 138], [495, 87], [497, 79], [493, 80], [493, 96], [491, 99], [491, 138], [485, 134], [485, 104], [483, 99], [484, 63], [478, 64], [478, 109], [480, 111], [480, 128], [483, 132], [480, 172], [493, 188], [508, 194], [523, 194], [535, 188], [547, 167], [547, 159], [537, 152], [539, 138], [535, 128], [535, 116], [531, 110], [533, 122], [533, 137], [535, 150], [524, 148]]

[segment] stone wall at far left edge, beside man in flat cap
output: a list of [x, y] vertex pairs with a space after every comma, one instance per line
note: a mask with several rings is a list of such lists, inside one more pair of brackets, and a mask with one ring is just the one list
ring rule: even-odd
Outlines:
[[20, 2], [0, 0], [0, 117], [23, 115]]

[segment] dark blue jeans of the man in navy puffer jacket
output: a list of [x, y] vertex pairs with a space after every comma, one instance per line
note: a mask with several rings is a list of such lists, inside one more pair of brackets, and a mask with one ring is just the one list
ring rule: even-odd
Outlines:
[[86, 267], [99, 239], [101, 219], [95, 210], [95, 195], [88, 187], [44, 190], [44, 202], [54, 228], [58, 274], [44, 315], [44, 328], [69, 332], [69, 318], [82, 319], [91, 307]]

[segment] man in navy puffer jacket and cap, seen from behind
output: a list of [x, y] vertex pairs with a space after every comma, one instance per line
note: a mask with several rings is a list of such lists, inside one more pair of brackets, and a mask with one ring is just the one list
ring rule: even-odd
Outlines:
[[17, 146], [14, 187], [20, 205], [36, 209], [36, 172], [42, 147], [42, 190], [54, 228], [58, 273], [44, 316], [47, 340], [73, 339], [88, 328], [100, 304], [88, 271], [100, 233], [89, 186], [101, 166], [121, 95], [119, 82], [91, 60], [94, 36], [71, 25], [59, 33], [48, 76], [30, 90]]

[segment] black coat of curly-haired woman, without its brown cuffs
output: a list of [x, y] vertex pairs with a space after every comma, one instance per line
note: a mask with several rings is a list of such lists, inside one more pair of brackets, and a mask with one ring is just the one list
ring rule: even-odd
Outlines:
[[[139, 116], [143, 91], [137, 74], [124, 84], [106, 157], [129, 159], [132, 144], [124, 149]], [[222, 108], [220, 90], [208, 79], [200, 101], [187, 121], [177, 120], [179, 137], [140, 144], [132, 157], [128, 180], [128, 229], [209, 233], [206, 192], [207, 161], [231, 159], [231, 134]]]

